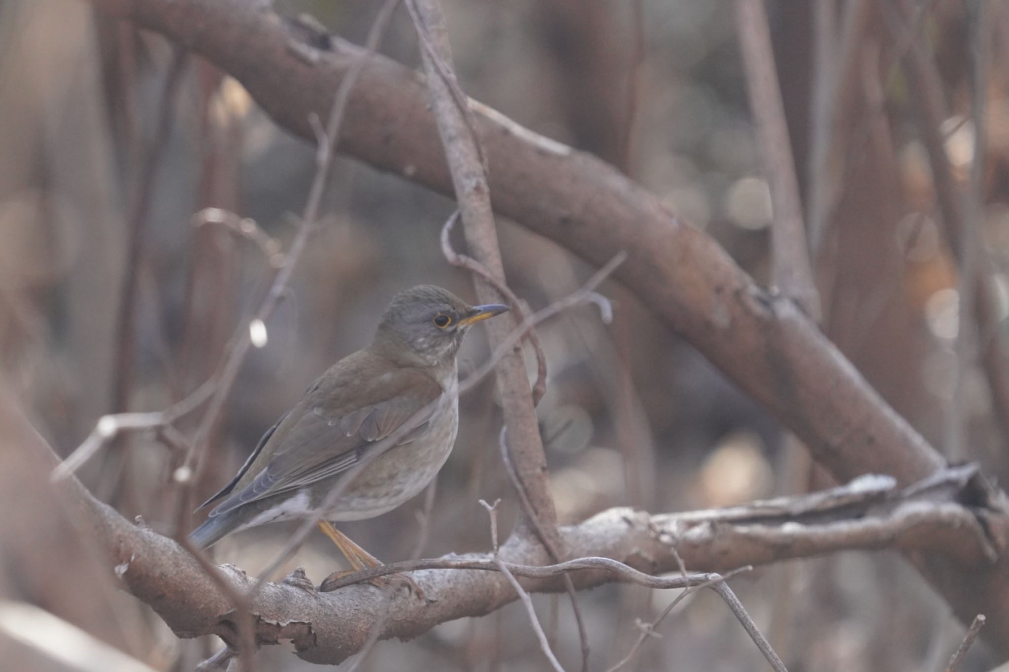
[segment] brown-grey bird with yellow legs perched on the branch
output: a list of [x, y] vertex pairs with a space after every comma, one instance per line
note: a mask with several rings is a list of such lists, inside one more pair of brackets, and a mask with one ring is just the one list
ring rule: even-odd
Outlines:
[[206, 549], [239, 530], [318, 517], [353, 569], [380, 565], [333, 523], [379, 516], [431, 483], [459, 426], [456, 354], [463, 337], [508, 309], [468, 305], [435, 285], [397, 294], [371, 343], [320, 376], [263, 434], [234, 478], [197, 509], [216, 504], [190, 541]]

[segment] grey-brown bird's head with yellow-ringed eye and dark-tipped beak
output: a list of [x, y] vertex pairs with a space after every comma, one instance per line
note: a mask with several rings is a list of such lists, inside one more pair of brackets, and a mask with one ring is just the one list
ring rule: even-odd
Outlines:
[[418, 285], [393, 298], [372, 347], [399, 360], [444, 364], [455, 357], [470, 326], [508, 309], [497, 303], [469, 305], [441, 287]]

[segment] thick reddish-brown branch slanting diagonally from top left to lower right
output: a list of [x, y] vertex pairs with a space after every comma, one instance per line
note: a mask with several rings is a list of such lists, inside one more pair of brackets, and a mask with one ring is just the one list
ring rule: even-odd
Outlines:
[[[297, 33], [244, 0], [92, 0], [161, 32], [237, 78], [278, 124], [312, 139], [306, 119], [359, 52], [328, 35]], [[761, 291], [703, 232], [611, 166], [538, 136], [471, 102], [500, 214], [594, 264], [629, 258], [619, 279], [673, 329], [779, 417], [842, 481], [880, 473], [910, 484], [944, 460], [898, 416], [795, 305]], [[339, 148], [450, 193], [451, 179], [419, 76], [369, 59], [347, 109]], [[990, 524], [1006, 529], [1001, 514]], [[976, 558], [980, 560], [981, 558]], [[916, 564], [985, 637], [1009, 655], [1009, 562], [965, 571], [931, 554]]]

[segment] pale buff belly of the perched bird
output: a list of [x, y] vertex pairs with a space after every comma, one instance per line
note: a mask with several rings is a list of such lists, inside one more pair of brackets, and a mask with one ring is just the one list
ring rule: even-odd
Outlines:
[[326, 513], [326, 519], [373, 518], [420, 494], [448, 459], [455, 443], [458, 399], [452, 398], [447, 406], [443, 412], [435, 413], [438, 419], [427, 432], [410, 443], [391, 448], [365, 467]]

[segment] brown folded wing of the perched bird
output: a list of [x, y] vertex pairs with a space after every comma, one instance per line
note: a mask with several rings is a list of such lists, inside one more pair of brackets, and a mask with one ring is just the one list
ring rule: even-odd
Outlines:
[[347, 471], [371, 450], [384, 452], [416, 439], [440, 406], [442, 388], [427, 376], [408, 377], [403, 385], [391, 387], [388, 399], [342, 404], [337, 409], [312, 403], [312, 397], [304, 400], [304, 412], [279, 437], [265, 468], [210, 515], [304, 488]]

